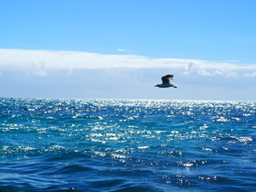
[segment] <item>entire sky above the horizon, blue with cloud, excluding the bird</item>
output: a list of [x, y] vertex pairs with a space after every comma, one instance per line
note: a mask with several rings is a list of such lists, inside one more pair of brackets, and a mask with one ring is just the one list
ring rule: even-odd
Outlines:
[[[254, 0], [1, 0], [0, 97], [256, 101]], [[159, 89], [174, 74], [178, 88]]]

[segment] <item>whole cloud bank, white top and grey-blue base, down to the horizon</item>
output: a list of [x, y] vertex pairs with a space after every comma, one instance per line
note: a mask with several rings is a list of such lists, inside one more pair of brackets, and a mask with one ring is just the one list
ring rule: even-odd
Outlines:
[[[174, 73], [178, 89], [156, 89]], [[79, 51], [0, 49], [0, 97], [256, 100], [256, 65]]]

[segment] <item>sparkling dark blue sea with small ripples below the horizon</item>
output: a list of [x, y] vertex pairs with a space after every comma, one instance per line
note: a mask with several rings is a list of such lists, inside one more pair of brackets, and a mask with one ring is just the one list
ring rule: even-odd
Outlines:
[[0, 99], [0, 191], [253, 191], [256, 102]]

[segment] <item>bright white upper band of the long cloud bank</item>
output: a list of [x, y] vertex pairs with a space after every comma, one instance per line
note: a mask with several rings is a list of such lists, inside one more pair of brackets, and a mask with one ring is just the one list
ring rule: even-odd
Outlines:
[[201, 59], [152, 59], [138, 55], [106, 55], [81, 51], [0, 49], [0, 72], [26, 70], [47, 76], [50, 70], [67, 69], [168, 69], [185, 75], [256, 77], [256, 64]]

